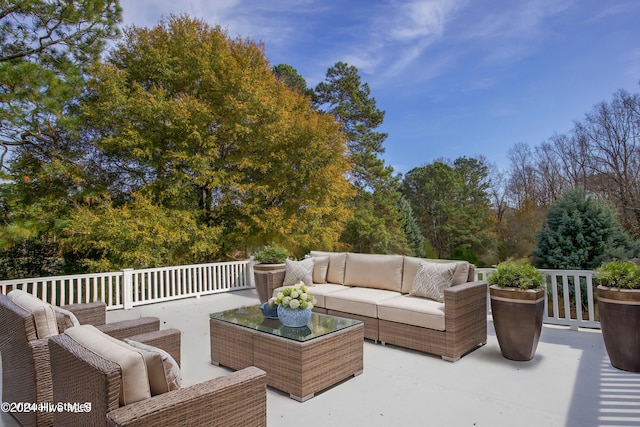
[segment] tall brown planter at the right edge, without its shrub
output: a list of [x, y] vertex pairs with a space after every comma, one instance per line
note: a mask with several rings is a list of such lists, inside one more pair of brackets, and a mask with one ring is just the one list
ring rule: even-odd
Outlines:
[[640, 372], [640, 290], [598, 286], [598, 314], [611, 364]]

